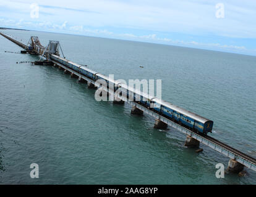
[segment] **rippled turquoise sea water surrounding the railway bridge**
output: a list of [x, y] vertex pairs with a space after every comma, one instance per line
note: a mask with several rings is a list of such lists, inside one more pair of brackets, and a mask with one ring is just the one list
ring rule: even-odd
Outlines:
[[[218, 140], [256, 157], [256, 57], [142, 42], [38, 31], [1, 30], [61, 42], [64, 55], [115, 79], [162, 79], [162, 98], [214, 121]], [[95, 90], [0, 37], [0, 183], [255, 184], [256, 173], [216, 179], [228, 158], [185, 135], [153, 129], [150, 116], [96, 102]], [[140, 68], [143, 66], [143, 68]], [[30, 164], [39, 179], [30, 178]]]

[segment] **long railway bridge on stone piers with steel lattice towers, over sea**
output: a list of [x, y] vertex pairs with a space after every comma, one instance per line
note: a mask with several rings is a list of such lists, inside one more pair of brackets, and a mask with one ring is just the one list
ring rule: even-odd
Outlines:
[[[75, 70], [72, 70], [71, 68], [67, 67], [62, 63], [51, 60], [51, 55], [59, 55], [59, 49], [61, 49], [61, 46], [58, 41], [49, 41], [48, 46], [43, 47], [40, 44], [38, 37], [32, 36], [30, 38], [30, 41], [28, 41], [28, 44], [25, 45], [19, 41], [16, 41], [14, 38], [7, 36], [6, 34], [3, 34], [1, 32], [0, 34], [5, 38], [9, 39], [10, 41], [14, 42], [15, 44], [17, 44], [18, 46], [22, 47], [28, 54], [41, 55], [41, 57], [44, 57], [49, 62], [53, 63], [54, 66], [59, 66], [59, 68], [65, 70], [65, 72], [70, 73], [72, 76], [76, 76], [77, 78], [79, 78], [79, 80], [86, 81], [88, 87], [100, 87], [105, 92], [108, 92], [108, 94], [114, 94], [113, 90], [101, 86], [101, 84], [99, 84], [97, 81], [94, 81], [93, 79], [90, 79], [87, 76]], [[62, 55], [64, 57], [63, 52]], [[64, 58], [64, 61], [68, 62], [69, 60], [66, 60], [66, 58]], [[229, 171], [241, 172], [244, 166], [248, 167], [249, 169], [252, 169], [253, 171], [256, 171], [256, 159], [253, 158], [252, 156], [246, 155], [245, 153], [242, 153], [242, 151], [236, 150], [235, 148], [226, 145], [225, 143], [220, 142], [219, 140], [216, 140], [213, 137], [210, 137], [208, 135], [200, 135], [197, 132], [194, 132], [188, 129], [187, 127], [182, 126], [181, 124], [178, 124], [172, 121], [171, 119], [166, 118], [165, 116], [157, 113], [156, 111], [151, 110], [151, 108], [147, 108], [143, 105], [140, 105], [140, 103], [137, 103], [134, 100], [127, 99], [127, 97], [124, 97], [123, 95], [118, 95], [117, 97], [121, 102], [114, 101], [114, 103], [124, 103], [124, 101], [127, 102], [132, 107], [132, 113], [137, 115], [143, 115], [143, 113], [147, 113], [148, 115], [155, 118], [156, 128], [164, 129], [167, 126], [171, 126], [174, 129], [177, 129], [177, 131], [180, 131], [183, 134], [185, 134], [187, 136], [185, 142], [185, 145], [187, 147], [198, 147], [199, 144], [202, 143], [203, 145], [212, 148], [218, 153], [227, 156], [228, 158], [230, 158], [228, 163]]]

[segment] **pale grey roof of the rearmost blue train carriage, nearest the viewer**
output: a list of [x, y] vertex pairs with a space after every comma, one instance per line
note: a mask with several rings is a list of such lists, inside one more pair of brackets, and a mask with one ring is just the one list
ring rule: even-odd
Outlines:
[[207, 118], [204, 118], [203, 116], [192, 113], [191, 111], [185, 110], [184, 108], [177, 107], [176, 105], [173, 105], [172, 103], [166, 102], [164, 100], [160, 100], [159, 98], [153, 98], [153, 100], [158, 103], [161, 103], [161, 105], [164, 105], [165, 107], [168, 107], [171, 110], [181, 113], [182, 115], [189, 116], [190, 118], [193, 118], [200, 123], [206, 123], [207, 121], [211, 121], [210, 119], [207, 119]]

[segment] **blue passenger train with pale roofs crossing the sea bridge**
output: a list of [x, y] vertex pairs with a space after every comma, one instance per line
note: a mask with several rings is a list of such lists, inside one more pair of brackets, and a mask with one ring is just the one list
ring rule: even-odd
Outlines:
[[78, 65], [77, 63], [66, 60], [65, 58], [61, 58], [58, 55], [51, 55], [50, 58], [55, 62], [61, 63], [62, 65], [83, 74], [93, 81], [97, 81], [98, 79], [105, 80], [108, 87], [114, 87], [114, 92], [117, 89], [120, 89], [120, 92], [125, 92], [125, 97], [127, 99], [133, 100], [143, 107], [149, 108], [150, 110], [155, 111], [155, 113], [158, 113], [159, 115], [164, 116], [177, 124], [181, 124], [182, 126], [197, 132], [198, 134], [207, 135], [208, 132], [212, 132], [213, 121], [210, 119], [203, 118], [202, 116], [192, 113], [191, 111], [187, 111], [184, 108], [177, 107], [172, 103], [160, 100], [157, 97], [144, 94], [143, 92], [129, 87], [126, 84], [119, 83], [103, 74], [88, 69], [86, 66]]

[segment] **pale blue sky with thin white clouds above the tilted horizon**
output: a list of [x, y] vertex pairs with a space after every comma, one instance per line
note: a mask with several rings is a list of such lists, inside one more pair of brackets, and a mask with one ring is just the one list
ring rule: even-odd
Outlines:
[[0, 26], [256, 55], [255, 0], [0, 0]]

